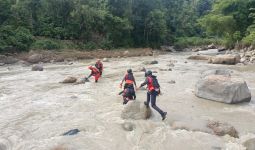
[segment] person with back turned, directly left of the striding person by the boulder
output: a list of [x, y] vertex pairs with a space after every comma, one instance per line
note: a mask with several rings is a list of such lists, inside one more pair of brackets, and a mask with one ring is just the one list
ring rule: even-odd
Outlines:
[[[133, 91], [135, 91], [134, 85], [136, 87], [136, 82], [135, 82], [135, 77], [133, 75], [132, 69], [128, 69], [127, 70], [127, 74], [124, 76], [124, 78], [122, 79], [121, 83], [120, 83], [120, 88], [122, 88], [122, 84], [123, 82], [125, 82], [124, 84], [124, 90], [127, 87], [130, 87], [131, 89], [133, 89]], [[122, 92], [120, 92], [121, 94]], [[134, 99], [136, 99], [136, 94], [134, 92]]]

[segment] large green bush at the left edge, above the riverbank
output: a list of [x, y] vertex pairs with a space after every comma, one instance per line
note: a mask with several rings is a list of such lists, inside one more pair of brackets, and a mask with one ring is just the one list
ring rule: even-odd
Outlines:
[[0, 51], [26, 51], [34, 41], [33, 35], [24, 27], [0, 27]]

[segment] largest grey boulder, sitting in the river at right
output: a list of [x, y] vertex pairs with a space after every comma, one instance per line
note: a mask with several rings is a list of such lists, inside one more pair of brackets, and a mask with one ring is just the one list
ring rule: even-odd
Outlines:
[[228, 104], [251, 100], [251, 92], [240, 77], [232, 76], [227, 71], [208, 72], [205, 72], [196, 83], [197, 97]]

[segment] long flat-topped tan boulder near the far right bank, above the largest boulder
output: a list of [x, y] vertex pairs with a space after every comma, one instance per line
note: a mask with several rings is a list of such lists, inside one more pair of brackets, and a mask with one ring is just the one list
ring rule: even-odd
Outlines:
[[218, 55], [215, 57], [211, 57], [209, 59], [209, 63], [235, 65], [237, 63], [240, 63], [240, 60], [240, 55]]

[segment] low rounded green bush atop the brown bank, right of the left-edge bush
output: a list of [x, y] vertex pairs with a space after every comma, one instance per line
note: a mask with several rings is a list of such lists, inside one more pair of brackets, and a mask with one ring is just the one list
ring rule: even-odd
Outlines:
[[32, 45], [32, 49], [52, 50], [52, 49], [60, 49], [60, 48], [62, 48], [61, 44], [51, 39], [36, 40], [36, 42], [33, 43]]

